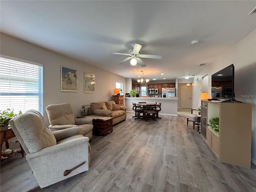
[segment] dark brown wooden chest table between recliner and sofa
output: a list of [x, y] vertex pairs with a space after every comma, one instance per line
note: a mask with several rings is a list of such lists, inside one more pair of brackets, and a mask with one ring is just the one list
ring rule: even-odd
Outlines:
[[113, 118], [112, 117], [90, 115], [90, 116], [86, 116], [84, 118], [92, 118], [93, 134], [97, 134], [100, 136], [106, 136], [106, 134], [108, 132], [113, 132]]

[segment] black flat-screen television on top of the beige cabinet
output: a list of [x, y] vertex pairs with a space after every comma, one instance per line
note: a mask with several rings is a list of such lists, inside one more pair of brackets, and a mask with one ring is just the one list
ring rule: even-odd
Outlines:
[[212, 75], [212, 98], [235, 100], [234, 65]]

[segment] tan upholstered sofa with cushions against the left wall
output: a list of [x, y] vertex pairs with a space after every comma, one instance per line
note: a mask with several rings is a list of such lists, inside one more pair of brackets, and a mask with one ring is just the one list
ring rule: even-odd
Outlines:
[[91, 103], [89, 115], [113, 118], [113, 125], [126, 119], [126, 106], [120, 106], [112, 101]]

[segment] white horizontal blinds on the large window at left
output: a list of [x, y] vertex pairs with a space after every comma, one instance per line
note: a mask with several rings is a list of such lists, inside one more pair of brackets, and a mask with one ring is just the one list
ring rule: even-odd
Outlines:
[[0, 110], [43, 114], [43, 67], [0, 57]]

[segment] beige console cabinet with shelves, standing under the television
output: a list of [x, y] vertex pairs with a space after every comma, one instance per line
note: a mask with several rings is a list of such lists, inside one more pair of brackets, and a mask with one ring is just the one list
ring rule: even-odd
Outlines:
[[[206, 126], [215, 117], [219, 134]], [[252, 104], [202, 100], [201, 134], [220, 162], [250, 168]]]

